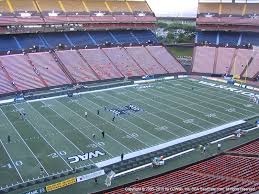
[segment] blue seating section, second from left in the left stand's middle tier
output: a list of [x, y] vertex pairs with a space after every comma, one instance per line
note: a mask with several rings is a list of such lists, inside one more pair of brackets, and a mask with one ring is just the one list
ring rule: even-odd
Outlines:
[[38, 34], [18, 34], [15, 37], [23, 49], [32, 48], [34, 45], [39, 48], [47, 48], [47, 45], [40, 39]]

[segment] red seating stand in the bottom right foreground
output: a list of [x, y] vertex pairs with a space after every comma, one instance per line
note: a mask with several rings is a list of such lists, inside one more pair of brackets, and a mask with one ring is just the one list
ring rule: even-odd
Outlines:
[[[258, 154], [258, 140], [240, 148], [234, 149], [232, 153]], [[230, 153], [231, 153], [230, 152]], [[189, 167], [170, 172], [162, 176], [150, 178], [143, 181], [127, 185], [128, 193], [130, 188], [178, 188], [177, 193], [186, 193], [184, 188], [221, 188], [223, 193], [236, 193], [229, 188], [251, 188], [259, 191], [258, 157], [233, 156], [224, 154], [208, 159], [206, 161], [191, 165]], [[117, 188], [107, 194], [125, 193], [125, 186]], [[206, 193], [218, 193], [219, 191], [209, 191]], [[247, 193], [248, 191], [243, 191]], [[251, 191], [249, 191], [251, 192]], [[156, 193], [172, 193], [172, 191], [157, 191]], [[197, 193], [205, 193], [197, 191]], [[239, 191], [239, 193], [242, 193]]]

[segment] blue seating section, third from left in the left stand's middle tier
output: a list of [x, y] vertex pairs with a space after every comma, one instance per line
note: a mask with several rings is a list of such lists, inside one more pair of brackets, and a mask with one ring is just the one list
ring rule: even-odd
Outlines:
[[44, 33], [40, 34], [42, 39], [47, 43], [50, 48], [55, 48], [59, 44], [64, 44], [67, 46], [73, 46], [69, 42], [64, 33]]

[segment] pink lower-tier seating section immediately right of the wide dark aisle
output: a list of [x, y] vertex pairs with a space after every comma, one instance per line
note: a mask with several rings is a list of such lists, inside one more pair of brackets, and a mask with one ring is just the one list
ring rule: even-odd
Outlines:
[[77, 82], [96, 81], [98, 79], [76, 50], [56, 51], [56, 54]]

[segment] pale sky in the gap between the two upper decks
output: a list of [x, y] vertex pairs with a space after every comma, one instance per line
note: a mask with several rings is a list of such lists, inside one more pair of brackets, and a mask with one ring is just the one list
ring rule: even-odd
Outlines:
[[198, 0], [147, 0], [156, 16], [196, 17]]

